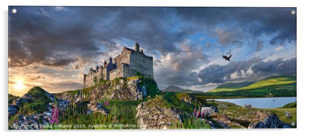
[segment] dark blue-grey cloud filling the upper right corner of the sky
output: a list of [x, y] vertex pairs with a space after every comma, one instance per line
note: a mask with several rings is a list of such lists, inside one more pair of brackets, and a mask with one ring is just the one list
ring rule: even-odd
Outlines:
[[218, 25], [231, 27], [219, 36], [221, 44], [235, 44], [244, 35], [251, 38], [263, 34], [278, 33], [271, 43], [296, 40], [296, 14], [291, 11], [296, 8], [176, 8], [182, 20], [189, 20], [204, 29], [213, 31]]

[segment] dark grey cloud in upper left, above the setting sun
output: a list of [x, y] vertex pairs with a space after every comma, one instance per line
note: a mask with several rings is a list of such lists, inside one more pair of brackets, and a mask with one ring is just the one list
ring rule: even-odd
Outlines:
[[65, 20], [65, 15], [53, 16], [56, 13], [52, 7], [15, 8], [18, 13], [9, 18], [11, 66], [33, 62], [63, 66], [77, 56], [99, 54], [99, 48], [87, 35], [91, 31], [86, 24], [74, 22], [74, 18]]

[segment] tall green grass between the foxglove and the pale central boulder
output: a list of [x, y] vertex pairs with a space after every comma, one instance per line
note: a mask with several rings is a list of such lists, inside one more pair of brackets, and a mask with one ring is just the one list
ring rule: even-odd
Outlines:
[[[71, 129], [122, 129], [121, 127], [91, 127], [91, 125], [121, 125], [131, 124], [137, 125], [135, 118], [136, 107], [141, 101], [121, 101], [121, 100], [101, 100], [104, 103], [108, 101], [108, 105], [104, 107], [109, 111], [109, 115], [100, 113], [86, 114], [87, 102], [70, 105], [65, 113], [59, 116], [62, 125], [84, 124], [82, 128]], [[54, 128], [55, 129], [55, 128]], [[129, 127], [126, 129], [139, 129], [137, 127]]]

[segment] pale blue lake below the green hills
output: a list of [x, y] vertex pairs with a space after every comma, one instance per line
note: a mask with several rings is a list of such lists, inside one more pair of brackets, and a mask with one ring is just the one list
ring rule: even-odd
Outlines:
[[238, 99], [207, 99], [216, 101], [232, 102], [240, 106], [251, 104], [256, 108], [277, 108], [296, 101], [296, 97], [273, 97], [273, 98], [238, 98]]

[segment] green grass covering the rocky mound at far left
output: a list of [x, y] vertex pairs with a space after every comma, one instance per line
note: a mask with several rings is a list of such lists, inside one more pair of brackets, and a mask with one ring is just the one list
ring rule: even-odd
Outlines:
[[27, 103], [23, 103], [22, 106], [18, 108], [17, 113], [23, 115], [41, 114], [48, 110], [47, 105], [51, 103], [52, 100], [50, 100], [45, 93], [45, 90], [41, 87], [35, 86], [31, 88], [27, 94], [33, 99], [30, 99]]

